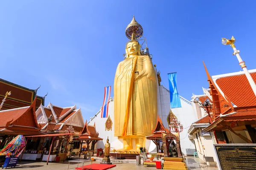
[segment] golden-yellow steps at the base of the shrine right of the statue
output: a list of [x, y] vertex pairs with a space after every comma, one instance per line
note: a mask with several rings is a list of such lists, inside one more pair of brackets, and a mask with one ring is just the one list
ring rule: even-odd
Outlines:
[[164, 170], [188, 170], [185, 159], [175, 157], [164, 157], [163, 169]]

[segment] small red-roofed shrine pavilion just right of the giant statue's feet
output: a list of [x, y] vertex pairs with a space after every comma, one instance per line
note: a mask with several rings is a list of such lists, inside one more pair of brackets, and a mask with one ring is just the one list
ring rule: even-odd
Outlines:
[[154, 129], [152, 129], [152, 135], [146, 136], [148, 140], [152, 140], [157, 146], [157, 152], [160, 149], [159, 140], [162, 140], [162, 134], [169, 133], [169, 129], [165, 128], [162, 122], [162, 119], [157, 115], [157, 124]]

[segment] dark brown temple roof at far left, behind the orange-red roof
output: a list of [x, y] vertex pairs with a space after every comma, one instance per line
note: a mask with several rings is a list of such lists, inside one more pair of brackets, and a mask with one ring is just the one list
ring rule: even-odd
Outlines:
[[1, 111], [14, 108], [22, 108], [30, 106], [36, 98], [35, 108], [38, 108], [41, 104], [44, 105], [44, 97], [37, 96], [37, 89], [32, 90], [23, 86], [17, 85], [12, 82], [8, 82], [4, 79], [0, 79], [0, 101], [5, 97], [6, 91], [12, 91], [10, 96], [7, 96], [6, 101], [3, 103]]

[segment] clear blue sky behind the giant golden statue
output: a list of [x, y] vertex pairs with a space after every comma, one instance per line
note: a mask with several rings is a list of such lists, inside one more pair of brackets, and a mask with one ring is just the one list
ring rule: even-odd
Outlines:
[[169, 88], [167, 73], [177, 72], [178, 92], [190, 100], [209, 86], [202, 60], [211, 75], [241, 71], [221, 37], [233, 35], [247, 68], [256, 68], [255, 6], [254, 0], [2, 0], [0, 78], [41, 85], [46, 105], [76, 104], [89, 119], [102, 105], [104, 87], [113, 86], [134, 15], [162, 84]]

